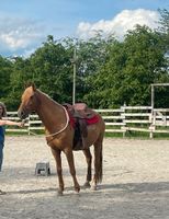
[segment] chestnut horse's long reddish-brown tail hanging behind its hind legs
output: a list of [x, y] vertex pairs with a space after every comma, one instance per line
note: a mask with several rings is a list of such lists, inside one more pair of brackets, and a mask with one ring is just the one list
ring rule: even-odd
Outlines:
[[103, 177], [103, 136], [100, 136], [94, 145], [94, 153], [95, 181], [97, 183], [101, 183]]

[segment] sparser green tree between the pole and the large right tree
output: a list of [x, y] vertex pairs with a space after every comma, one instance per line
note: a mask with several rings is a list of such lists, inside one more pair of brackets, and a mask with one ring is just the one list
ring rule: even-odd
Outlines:
[[97, 72], [105, 65], [109, 57], [109, 44], [115, 42], [114, 36], [102, 37], [98, 33], [95, 37], [88, 41], [79, 41], [78, 48], [78, 99], [93, 106], [97, 100], [89, 97], [89, 93], [93, 90], [93, 80]]

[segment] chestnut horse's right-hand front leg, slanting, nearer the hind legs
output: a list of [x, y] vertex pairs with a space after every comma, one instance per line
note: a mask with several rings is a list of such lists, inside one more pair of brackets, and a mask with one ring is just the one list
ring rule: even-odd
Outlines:
[[67, 157], [67, 161], [68, 161], [68, 164], [69, 164], [69, 170], [70, 170], [70, 174], [72, 176], [72, 180], [74, 180], [74, 187], [75, 187], [75, 191], [77, 193], [80, 192], [80, 186], [79, 186], [79, 183], [77, 181], [77, 177], [76, 177], [76, 170], [75, 170], [75, 162], [74, 162], [74, 154], [72, 154], [72, 150], [71, 148], [67, 148], [64, 150], [66, 157]]

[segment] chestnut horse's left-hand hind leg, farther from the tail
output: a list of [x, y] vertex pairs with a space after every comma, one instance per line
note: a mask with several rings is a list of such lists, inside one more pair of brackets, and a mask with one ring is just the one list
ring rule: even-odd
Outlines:
[[91, 182], [91, 161], [92, 161], [92, 155], [90, 152], [90, 148], [82, 150], [84, 157], [86, 157], [86, 161], [87, 161], [87, 178], [86, 178], [86, 183], [83, 184], [84, 187], [90, 187], [90, 182]]

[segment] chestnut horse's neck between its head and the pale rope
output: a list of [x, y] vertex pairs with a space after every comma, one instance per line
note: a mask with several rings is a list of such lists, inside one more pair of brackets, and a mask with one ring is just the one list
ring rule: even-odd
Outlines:
[[57, 104], [46, 94], [40, 93], [40, 105], [36, 110], [37, 115], [44, 126], [50, 132], [56, 132], [66, 124], [66, 115], [63, 106]]

